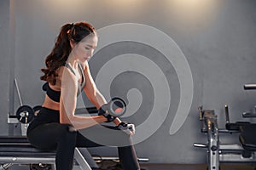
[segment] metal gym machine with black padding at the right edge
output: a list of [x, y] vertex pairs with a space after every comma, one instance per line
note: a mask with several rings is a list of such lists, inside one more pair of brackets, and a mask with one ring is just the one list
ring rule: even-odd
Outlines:
[[[249, 87], [249, 88], [248, 88]], [[244, 89], [256, 89], [256, 85], [244, 86]], [[255, 113], [243, 113], [250, 117]], [[253, 116], [254, 116], [253, 115]], [[207, 149], [207, 169], [218, 170], [220, 163], [255, 163], [256, 162], [256, 124], [251, 122], [230, 122], [229, 108], [225, 105], [226, 124], [218, 128], [218, 116], [214, 110], [199, 107], [201, 133], [207, 133], [207, 144], [195, 143], [195, 147]], [[240, 144], [221, 144], [219, 133], [239, 133]]]

